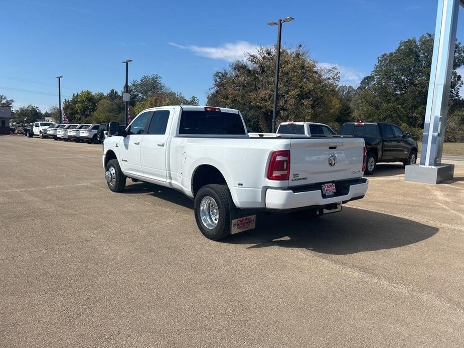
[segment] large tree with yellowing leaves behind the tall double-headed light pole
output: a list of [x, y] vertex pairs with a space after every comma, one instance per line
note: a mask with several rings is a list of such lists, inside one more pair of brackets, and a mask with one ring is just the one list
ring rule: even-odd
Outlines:
[[[260, 47], [246, 62], [235, 61], [213, 76], [208, 105], [241, 110], [247, 127], [270, 131], [274, 87], [275, 50]], [[300, 46], [283, 48], [280, 58], [279, 121], [316, 121], [334, 124], [340, 110], [339, 73], [321, 69]]]

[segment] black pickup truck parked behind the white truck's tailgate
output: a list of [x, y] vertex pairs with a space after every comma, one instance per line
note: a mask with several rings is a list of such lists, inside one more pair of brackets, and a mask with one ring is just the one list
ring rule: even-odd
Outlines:
[[377, 162], [403, 162], [408, 165], [417, 160], [417, 141], [395, 124], [349, 122], [343, 124], [339, 134], [364, 138], [367, 148], [365, 175], [374, 172]]

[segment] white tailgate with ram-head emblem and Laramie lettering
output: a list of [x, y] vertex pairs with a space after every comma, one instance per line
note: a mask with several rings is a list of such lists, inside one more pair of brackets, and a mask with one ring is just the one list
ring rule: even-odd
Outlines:
[[363, 176], [363, 138], [290, 139], [288, 186]]

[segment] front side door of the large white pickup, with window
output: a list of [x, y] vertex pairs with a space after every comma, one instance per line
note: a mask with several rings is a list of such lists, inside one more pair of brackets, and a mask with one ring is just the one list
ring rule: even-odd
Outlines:
[[140, 144], [145, 133], [145, 126], [151, 116], [151, 111], [144, 112], [132, 121], [127, 128], [127, 135], [119, 141], [119, 157], [121, 169], [127, 174], [142, 176], [140, 164]]

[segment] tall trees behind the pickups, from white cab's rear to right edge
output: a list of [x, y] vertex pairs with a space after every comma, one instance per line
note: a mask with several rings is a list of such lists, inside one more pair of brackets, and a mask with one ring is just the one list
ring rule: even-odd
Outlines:
[[[283, 48], [280, 61], [278, 120], [314, 121], [338, 130], [344, 122], [388, 121], [421, 140], [433, 52], [433, 35], [400, 42], [383, 54], [359, 87], [339, 86], [336, 68], [323, 69], [298, 46]], [[253, 131], [270, 131], [275, 50], [261, 47], [246, 61], [231, 63], [213, 76], [209, 105], [238, 108]], [[459, 96], [464, 48], [457, 43], [445, 138], [464, 141], [464, 102]]]

